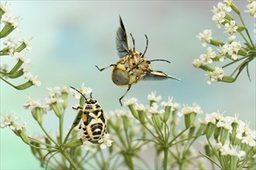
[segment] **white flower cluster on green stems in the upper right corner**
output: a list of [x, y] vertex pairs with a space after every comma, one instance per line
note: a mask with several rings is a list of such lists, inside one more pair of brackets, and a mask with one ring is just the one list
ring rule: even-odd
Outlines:
[[[255, 17], [254, 0], [249, 1], [247, 8], [249, 11], [246, 12], [250, 12], [250, 14]], [[240, 24], [238, 24], [238, 22], [234, 20], [234, 17], [230, 15], [229, 12], [231, 11], [234, 11], [239, 16]], [[208, 84], [218, 81], [233, 83], [237, 80], [237, 76], [239, 76], [241, 71], [255, 58], [255, 42], [252, 41], [251, 35], [240, 15], [240, 10], [234, 5], [233, 1], [224, 0], [223, 2], [219, 2], [217, 6], [213, 6], [212, 19], [216, 22], [216, 26], [219, 29], [223, 26], [223, 32], [227, 33], [228, 41], [221, 42], [220, 40], [213, 38], [211, 29], [206, 29], [203, 32], [200, 32], [197, 37], [202, 42], [202, 46], [206, 47], [208, 44], [216, 46], [217, 52], [214, 51], [211, 46], [208, 46], [207, 53], [200, 55], [199, 59], [194, 59], [192, 64], [195, 68], [200, 68], [208, 72]], [[237, 34], [244, 39], [244, 42], [235, 41]], [[244, 44], [244, 46], [241, 44]], [[215, 69], [213, 66], [210, 66], [213, 62], [223, 63], [224, 60], [228, 63], [223, 66], [216, 66]], [[238, 62], [241, 63], [237, 66], [234, 72], [231, 73], [230, 76], [225, 76], [223, 69]], [[248, 70], [247, 75], [250, 79]]]

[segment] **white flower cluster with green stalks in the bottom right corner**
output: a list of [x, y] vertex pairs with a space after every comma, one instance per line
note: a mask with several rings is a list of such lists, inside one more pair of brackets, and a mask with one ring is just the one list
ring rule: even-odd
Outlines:
[[[223, 117], [219, 112], [206, 114], [206, 138], [211, 151], [206, 151], [206, 158], [213, 153], [223, 169], [242, 169], [244, 165], [254, 162], [256, 148], [256, 131], [248, 124], [235, 117]], [[214, 142], [209, 139], [213, 137]], [[217, 149], [216, 149], [217, 148]]]

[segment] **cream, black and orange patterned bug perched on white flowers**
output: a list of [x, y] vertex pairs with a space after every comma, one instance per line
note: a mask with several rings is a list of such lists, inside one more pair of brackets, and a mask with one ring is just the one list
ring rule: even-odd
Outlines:
[[[81, 93], [74, 87], [71, 88]], [[106, 134], [107, 122], [104, 111], [97, 100], [92, 98], [92, 93], [90, 94], [90, 98], [86, 98], [83, 93], [81, 93], [81, 96], [85, 98], [85, 106], [72, 107], [74, 110], [82, 111], [79, 129], [82, 129], [88, 141], [98, 143], [99, 139]]]

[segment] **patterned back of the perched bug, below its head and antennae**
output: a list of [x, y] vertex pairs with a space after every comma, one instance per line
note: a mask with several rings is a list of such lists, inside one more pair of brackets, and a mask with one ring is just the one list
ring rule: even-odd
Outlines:
[[98, 143], [99, 139], [106, 132], [106, 119], [103, 110], [85, 110], [81, 127], [88, 141]]

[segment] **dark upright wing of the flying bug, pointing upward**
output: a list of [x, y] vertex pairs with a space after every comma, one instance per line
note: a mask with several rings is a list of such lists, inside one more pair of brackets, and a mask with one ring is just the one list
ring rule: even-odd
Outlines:
[[119, 15], [120, 26], [116, 32], [116, 49], [120, 58], [129, 54], [129, 40], [126, 35], [126, 29], [124, 28], [123, 21]]

